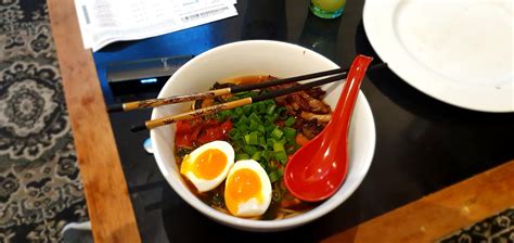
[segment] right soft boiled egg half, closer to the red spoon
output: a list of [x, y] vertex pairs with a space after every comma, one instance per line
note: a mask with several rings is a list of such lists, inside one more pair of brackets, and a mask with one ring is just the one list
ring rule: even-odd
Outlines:
[[224, 184], [229, 212], [237, 217], [260, 216], [270, 203], [271, 182], [266, 170], [254, 159], [236, 162]]

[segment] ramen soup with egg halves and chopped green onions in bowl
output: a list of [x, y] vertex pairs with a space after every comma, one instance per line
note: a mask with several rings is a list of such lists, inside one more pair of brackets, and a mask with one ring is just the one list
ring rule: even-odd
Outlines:
[[[244, 76], [216, 82], [213, 89], [272, 79]], [[205, 99], [192, 110], [296, 85]], [[318, 204], [294, 197], [283, 172], [291, 155], [331, 119], [324, 94], [312, 88], [177, 123], [174, 150], [182, 179], [201, 201], [236, 217], [274, 220], [311, 209]]]

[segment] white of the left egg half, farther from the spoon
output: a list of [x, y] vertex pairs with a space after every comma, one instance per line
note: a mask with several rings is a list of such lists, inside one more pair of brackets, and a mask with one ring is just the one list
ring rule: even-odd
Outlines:
[[193, 186], [196, 188], [196, 190], [198, 190], [198, 192], [210, 191], [218, 187], [221, 182], [223, 182], [223, 180], [227, 178], [227, 175], [229, 174], [230, 168], [234, 165], [235, 153], [232, 145], [226, 141], [213, 141], [209, 143], [205, 143], [202, 146], [198, 146], [193, 152], [191, 152], [191, 154], [189, 154], [189, 156], [184, 158], [184, 162], [182, 162], [181, 166], [184, 166], [184, 163], [195, 163], [198, 155], [209, 149], [220, 150], [224, 155], [227, 155], [227, 165], [224, 166], [221, 174], [219, 174], [216, 178], [211, 180], [206, 180], [204, 178], [196, 177], [193, 171], [182, 171], [182, 168], [180, 169], [182, 175], [184, 175], [191, 181], [191, 183], [193, 183]]

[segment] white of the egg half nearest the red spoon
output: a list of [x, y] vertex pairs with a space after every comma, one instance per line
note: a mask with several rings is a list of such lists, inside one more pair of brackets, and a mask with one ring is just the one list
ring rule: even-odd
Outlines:
[[[230, 178], [235, 171], [240, 169], [250, 169], [257, 174], [261, 184], [260, 197], [262, 199], [259, 202], [258, 199], [252, 197], [246, 202], [240, 203], [237, 205], [237, 212], [234, 213], [239, 217], [253, 217], [260, 216], [266, 213], [270, 203], [271, 203], [271, 181], [266, 174], [266, 170], [260, 166], [260, 164], [254, 159], [244, 159], [237, 161], [229, 171], [227, 178]], [[226, 190], [230, 187], [229, 180], [226, 181]]]

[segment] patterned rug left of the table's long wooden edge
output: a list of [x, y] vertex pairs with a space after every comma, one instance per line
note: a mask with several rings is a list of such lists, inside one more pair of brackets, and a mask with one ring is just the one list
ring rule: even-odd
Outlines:
[[87, 220], [44, 0], [0, 0], [0, 242]]

